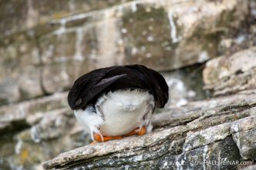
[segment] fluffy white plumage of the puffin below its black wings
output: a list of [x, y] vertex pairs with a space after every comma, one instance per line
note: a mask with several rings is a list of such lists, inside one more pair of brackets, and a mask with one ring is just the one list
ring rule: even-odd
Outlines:
[[153, 95], [143, 90], [117, 90], [102, 95], [96, 102], [96, 112], [88, 105], [86, 110], [75, 110], [78, 121], [90, 132], [105, 136], [125, 135], [145, 126], [152, 129], [151, 117], [155, 102]]

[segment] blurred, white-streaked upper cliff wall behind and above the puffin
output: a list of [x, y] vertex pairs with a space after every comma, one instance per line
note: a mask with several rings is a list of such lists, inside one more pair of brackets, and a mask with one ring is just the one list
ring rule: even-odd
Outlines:
[[227, 51], [220, 39], [248, 22], [249, 2], [2, 2], [0, 104], [65, 91], [94, 68], [205, 62]]

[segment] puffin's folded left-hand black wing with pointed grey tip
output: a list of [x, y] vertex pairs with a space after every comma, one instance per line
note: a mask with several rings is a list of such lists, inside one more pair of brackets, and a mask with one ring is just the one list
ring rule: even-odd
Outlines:
[[96, 95], [102, 92], [116, 80], [126, 75], [116, 75], [110, 78], [103, 78], [107, 73], [113, 70], [110, 68], [101, 68], [86, 75], [79, 77], [69, 91], [68, 102], [73, 110], [85, 108], [86, 104]]

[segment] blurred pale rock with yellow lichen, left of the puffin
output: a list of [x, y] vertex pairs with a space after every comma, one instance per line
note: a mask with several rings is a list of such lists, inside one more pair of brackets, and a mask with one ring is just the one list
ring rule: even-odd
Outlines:
[[51, 155], [91, 140], [67, 108], [66, 93], [4, 106], [0, 115], [0, 125], [5, 125], [0, 129], [1, 168], [40, 170], [40, 163]]

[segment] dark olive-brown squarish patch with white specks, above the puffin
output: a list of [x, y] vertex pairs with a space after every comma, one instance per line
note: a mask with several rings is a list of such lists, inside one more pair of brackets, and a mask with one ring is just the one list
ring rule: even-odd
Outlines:
[[170, 23], [164, 8], [136, 5], [136, 12], [131, 9], [124, 12], [120, 29], [126, 30], [123, 33], [126, 64], [141, 62], [152, 68], [170, 68], [178, 43], [170, 38]]

